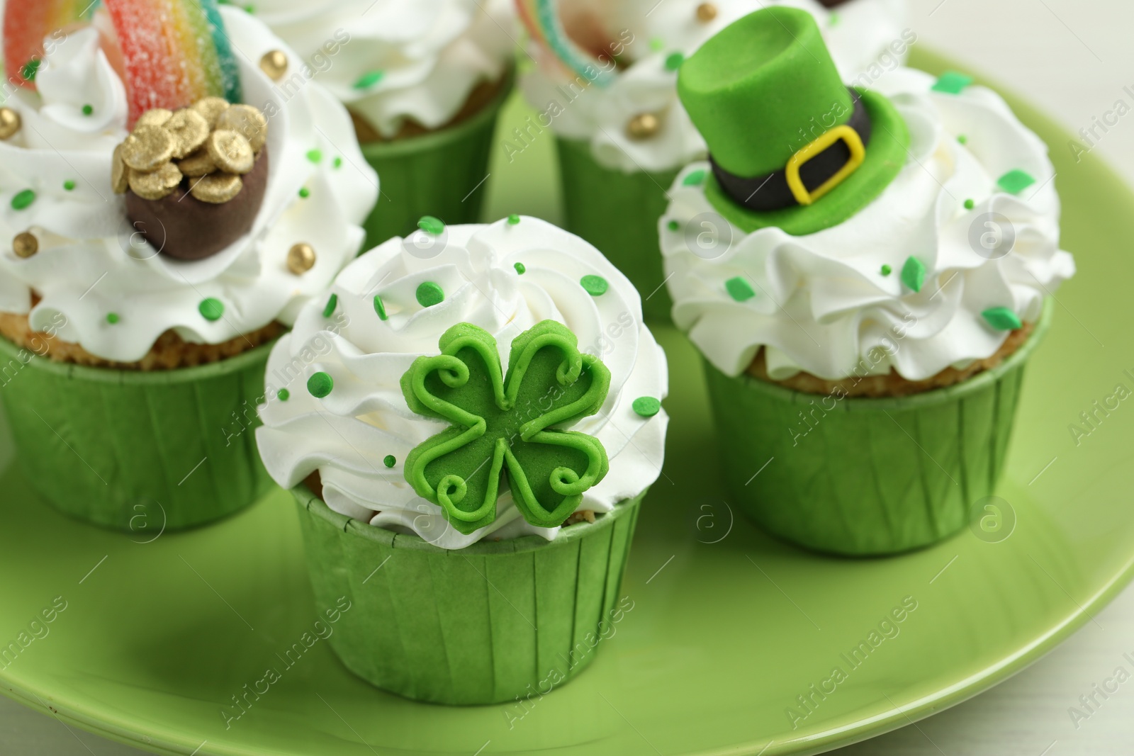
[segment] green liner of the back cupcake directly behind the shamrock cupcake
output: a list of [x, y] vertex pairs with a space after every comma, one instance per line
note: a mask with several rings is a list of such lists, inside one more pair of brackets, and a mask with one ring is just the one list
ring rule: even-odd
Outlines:
[[492, 101], [451, 128], [362, 145], [381, 188], [378, 204], [363, 223], [364, 249], [408, 236], [423, 215], [449, 224], [480, 222], [492, 137], [513, 82], [509, 70]]

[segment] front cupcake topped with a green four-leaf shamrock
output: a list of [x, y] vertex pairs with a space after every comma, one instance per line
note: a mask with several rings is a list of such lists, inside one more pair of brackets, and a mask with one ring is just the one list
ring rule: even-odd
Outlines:
[[256, 431], [316, 602], [350, 601], [331, 646], [434, 703], [572, 678], [625, 613], [662, 465], [666, 357], [634, 287], [513, 215], [390, 239], [331, 291], [272, 349]]

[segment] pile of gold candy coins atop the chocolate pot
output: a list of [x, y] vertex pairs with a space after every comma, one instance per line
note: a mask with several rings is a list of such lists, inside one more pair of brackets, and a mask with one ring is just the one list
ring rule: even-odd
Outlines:
[[149, 110], [115, 147], [111, 182], [117, 194], [162, 199], [188, 177], [194, 197], [221, 204], [240, 194], [266, 141], [268, 119], [252, 105], [205, 97], [177, 112]]

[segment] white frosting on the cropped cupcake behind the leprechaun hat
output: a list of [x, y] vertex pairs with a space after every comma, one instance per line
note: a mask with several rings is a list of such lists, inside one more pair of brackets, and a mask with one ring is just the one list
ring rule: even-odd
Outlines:
[[[590, 142], [600, 165], [627, 173], [671, 170], [703, 159], [705, 144], [677, 97], [677, 71], [666, 67], [670, 54], [679, 52], [688, 58], [733, 22], [769, 5], [790, 6], [814, 16], [846, 82], [871, 68], [880, 73], [896, 67], [916, 39], [904, 29], [906, 0], [850, 0], [832, 10], [816, 0], [714, 0], [717, 16], [708, 23], [697, 19], [700, 5], [701, 0], [578, 3], [574, 9], [581, 18], [576, 25], [601, 23], [610, 42], [626, 44], [623, 56], [628, 66], [608, 86], [584, 86], [583, 79], [572, 90], [576, 75], [542, 45], [530, 44], [536, 67], [524, 74], [521, 88], [541, 116], [547, 113], [541, 125], [550, 121], [560, 137]], [[567, 23], [572, 23], [570, 17]], [[652, 45], [654, 41], [659, 44]], [[900, 53], [896, 56], [894, 50]], [[632, 139], [627, 124], [641, 113], [657, 114], [660, 127], [650, 138]]]

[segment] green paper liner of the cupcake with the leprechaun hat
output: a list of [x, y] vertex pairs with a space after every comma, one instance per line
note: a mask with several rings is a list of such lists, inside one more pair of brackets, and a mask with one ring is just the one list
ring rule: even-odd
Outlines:
[[705, 360], [725, 478], [762, 529], [815, 551], [890, 554], [964, 528], [1004, 468], [1024, 365], [1048, 330], [997, 367], [892, 399], [802, 393]]

